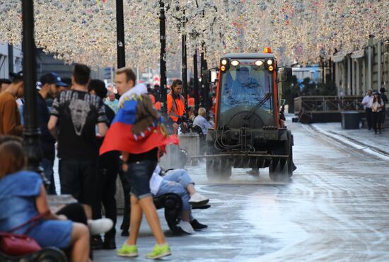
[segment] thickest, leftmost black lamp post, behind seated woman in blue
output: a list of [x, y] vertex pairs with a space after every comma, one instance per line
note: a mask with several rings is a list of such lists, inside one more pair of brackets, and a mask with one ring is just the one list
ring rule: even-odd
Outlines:
[[42, 173], [40, 130], [37, 125], [36, 60], [34, 40], [34, 1], [22, 0], [23, 15], [23, 89], [25, 125], [23, 145], [28, 159], [27, 169]]

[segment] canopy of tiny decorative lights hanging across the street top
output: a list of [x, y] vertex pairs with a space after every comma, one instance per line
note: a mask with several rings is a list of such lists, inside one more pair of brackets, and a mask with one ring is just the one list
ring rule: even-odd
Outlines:
[[[34, 0], [37, 47], [65, 62], [115, 67], [113, 0]], [[168, 68], [180, 65], [182, 33], [187, 52], [206, 50], [211, 65], [227, 52], [271, 47], [281, 63], [318, 62], [359, 50], [369, 35], [389, 38], [385, 0], [166, 0]], [[182, 27], [185, 10], [186, 23]], [[159, 59], [158, 1], [125, 0], [127, 64], [153, 66]], [[21, 43], [21, 1], [0, 2], [0, 42]], [[170, 66], [171, 65], [171, 66]]]

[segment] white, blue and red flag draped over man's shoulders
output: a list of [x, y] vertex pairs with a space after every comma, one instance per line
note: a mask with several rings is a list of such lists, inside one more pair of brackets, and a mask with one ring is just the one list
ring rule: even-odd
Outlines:
[[110, 151], [141, 154], [167, 144], [178, 144], [178, 137], [168, 135], [146, 86], [138, 84], [120, 98], [119, 111], [105, 135], [100, 154]]

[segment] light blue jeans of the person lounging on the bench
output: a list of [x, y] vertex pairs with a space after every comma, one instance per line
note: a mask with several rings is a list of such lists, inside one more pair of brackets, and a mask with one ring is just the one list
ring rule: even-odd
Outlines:
[[184, 169], [175, 169], [169, 171], [163, 176], [163, 181], [159, 186], [156, 196], [164, 195], [167, 193], [175, 193], [180, 195], [182, 200], [182, 210], [190, 210], [189, 193], [187, 193], [187, 185], [194, 184], [192, 178], [188, 175]]

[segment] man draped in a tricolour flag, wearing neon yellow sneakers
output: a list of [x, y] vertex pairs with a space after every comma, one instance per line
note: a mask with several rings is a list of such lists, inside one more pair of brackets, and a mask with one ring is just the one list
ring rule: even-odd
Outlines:
[[169, 256], [170, 246], [161, 229], [149, 181], [158, 162], [158, 147], [178, 144], [178, 139], [168, 137], [161, 125], [161, 117], [147, 95], [146, 86], [134, 86], [136, 76], [132, 69], [118, 69], [115, 81], [117, 90], [122, 95], [119, 101], [120, 109], [100, 147], [100, 155], [112, 150], [122, 151], [122, 169], [124, 176], [131, 183], [129, 239], [117, 251], [117, 255], [138, 256], [136, 244], [144, 213], [157, 242], [146, 258]]

